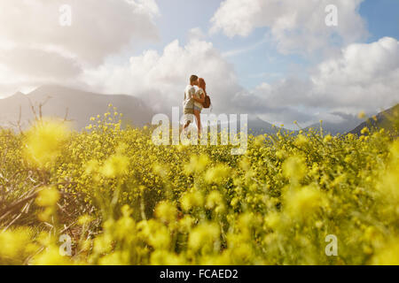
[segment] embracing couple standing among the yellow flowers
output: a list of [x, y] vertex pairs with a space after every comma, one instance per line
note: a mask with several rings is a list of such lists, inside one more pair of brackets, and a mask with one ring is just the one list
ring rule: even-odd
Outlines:
[[194, 117], [197, 121], [198, 136], [201, 134], [201, 111], [203, 108], [209, 108], [210, 99], [207, 96], [207, 84], [202, 78], [198, 78], [196, 75], [190, 77], [190, 84], [185, 88], [184, 91], [184, 126], [183, 131], [190, 126], [194, 121]]

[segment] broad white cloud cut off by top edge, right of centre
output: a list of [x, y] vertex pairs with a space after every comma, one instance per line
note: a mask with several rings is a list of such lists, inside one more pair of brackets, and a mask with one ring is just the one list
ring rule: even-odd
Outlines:
[[[257, 27], [269, 27], [282, 53], [306, 53], [346, 45], [367, 31], [358, 14], [363, 0], [224, 0], [211, 19], [211, 33], [247, 36]], [[338, 7], [338, 27], [325, 25], [325, 7]], [[337, 40], [339, 42], [337, 42]]]

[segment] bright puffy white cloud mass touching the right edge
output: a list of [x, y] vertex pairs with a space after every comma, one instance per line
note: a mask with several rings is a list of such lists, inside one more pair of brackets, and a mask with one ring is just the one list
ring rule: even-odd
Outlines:
[[385, 37], [370, 44], [351, 44], [341, 57], [318, 65], [310, 80], [320, 102], [330, 107], [375, 111], [397, 103], [399, 42]]

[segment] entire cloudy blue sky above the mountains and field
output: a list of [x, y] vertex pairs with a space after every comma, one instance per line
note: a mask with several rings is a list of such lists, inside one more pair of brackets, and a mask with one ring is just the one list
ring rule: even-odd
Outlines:
[[398, 40], [397, 0], [0, 0], [0, 97], [59, 84], [168, 113], [196, 73], [216, 113], [342, 123], [399, 102]]

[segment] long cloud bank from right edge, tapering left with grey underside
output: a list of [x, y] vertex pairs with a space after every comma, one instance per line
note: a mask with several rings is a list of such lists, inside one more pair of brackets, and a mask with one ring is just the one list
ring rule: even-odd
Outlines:
[[[310, 123], [387, 109], [399, 103], [398, 89], [399, 42], [385, 37], [370, 44], [350, 44], [340, 56], [317, 65], [309, 78], [263, 83], [233, 103], [246, 101], [243, 110], [270, 121]], [[322, 114], [315, 115], [318, 111]]]

